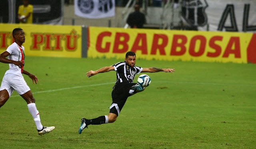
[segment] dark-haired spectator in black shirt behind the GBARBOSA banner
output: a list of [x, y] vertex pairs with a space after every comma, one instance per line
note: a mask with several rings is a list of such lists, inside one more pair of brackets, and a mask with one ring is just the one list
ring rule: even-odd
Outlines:
[[140, 5], [136, 3], [134, 5], [134, 10], [134, 12], [129, 14], [126, 23], [131, 28], [143, 28], [143, 25], [146, 23], [146, 17], [140, 12]]

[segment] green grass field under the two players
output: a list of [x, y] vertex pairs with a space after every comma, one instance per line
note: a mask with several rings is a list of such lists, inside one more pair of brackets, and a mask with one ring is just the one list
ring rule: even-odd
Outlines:
[[[41, 122], [55, 126], [39, 136], [26, 102], [16, 92], [0, 108], [0, 149], [255, 149], [256, 65], [146, 61], [140, 67], [175, 68], [146, 73], [151, 84], [128, 98], [117, 121], [89, 125], [82, 117], [107, 115], [114, 71], [85, 73], [124, 59], [26, 57], [24, 76]], [[8, 64], [0, 63], [0, 78]], [[137, 79], [138, 75], [136, 76]], [[136, 80], [135, 79], [135, 80]]]

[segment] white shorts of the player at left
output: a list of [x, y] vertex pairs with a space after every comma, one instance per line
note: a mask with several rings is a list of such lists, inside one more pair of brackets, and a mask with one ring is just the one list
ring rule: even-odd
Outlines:
[[0, 90], [6, 89], [9, 93], [9, 97], [12, 95], [12, 92], [16, 90], [19, 95], [25, 94], [30, 91], [28, 84], [24, 80], [23, 76], [18, 76], [12, 73], [4, 75]]

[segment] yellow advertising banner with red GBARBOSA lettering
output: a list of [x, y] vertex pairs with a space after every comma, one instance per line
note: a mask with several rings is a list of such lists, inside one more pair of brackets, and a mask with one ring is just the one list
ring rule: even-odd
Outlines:
[[88, 57], [247, 63], [253, 33], [89, 27]]

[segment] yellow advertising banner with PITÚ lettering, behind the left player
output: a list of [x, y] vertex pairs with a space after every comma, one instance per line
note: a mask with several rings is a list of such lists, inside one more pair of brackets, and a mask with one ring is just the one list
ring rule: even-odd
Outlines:
[[0, 24], [0, 52], [6, 51], [14, 40], [12, 30], [25, 32], [25, 54], [44, 57], [81, 57], [81, 26]]

